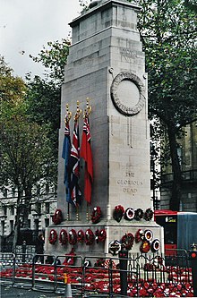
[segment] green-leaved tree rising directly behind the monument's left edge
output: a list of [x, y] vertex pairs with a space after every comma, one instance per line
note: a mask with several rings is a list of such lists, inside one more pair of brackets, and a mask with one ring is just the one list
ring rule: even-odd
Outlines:
[[[58, 158], [58, 133], [60, 127], [61, 85], [64, 82], [64, 66], [71, 42], [62, 39], [61, 42], [47, 42], [37, 56], [30, 55], [36, 63], [45, 66], [44, 79], [35, 76], [33, 79], [27, 76], [29, 103], [28, 113], [37, 123], [49, 123], [51, 125], [50, 139], [53, 146], [54, 158]], [[55, 178], [56, 177], [56, 178]], [[54, 173], [57, 179], [57, 167]]]

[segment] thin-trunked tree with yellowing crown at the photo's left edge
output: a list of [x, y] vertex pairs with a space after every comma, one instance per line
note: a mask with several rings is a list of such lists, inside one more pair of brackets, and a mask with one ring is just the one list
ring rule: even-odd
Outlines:
[[[14, 251], [20, 227], [27, 227], [32, 192], [38, 184], [54, 183], [56, 160], [48, 138], [51, 128], [48, 124], [32, 122], [27, 113], [24, 82], [20, 79], [20, 86], [16, 84], [17, 78], [13, 77], [12, 71], [8, 72], [4, 60], [1, 60], [1, 69], [4, 72], [1, 72], [0, 80], [7, 85], [4, 84], [0, 92], [0, 183], [2, 190], [14, 189], [16, 193]], [[11, 86], [14, 86], [13, 89]], [[9, 97], [5, 97], [4, 90], [8, 88]], [[22, 89], [21, 93], [19, 89]]]

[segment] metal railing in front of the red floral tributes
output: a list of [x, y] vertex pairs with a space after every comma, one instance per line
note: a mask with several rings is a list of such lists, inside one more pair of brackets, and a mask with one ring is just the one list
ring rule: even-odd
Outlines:
[[[41, 256], [44, 257], [43, 264], [38, 262]], [[53, 260], [50, 264], [47, 263], [48, 256]], [[70, 261], [65, 255], [0, 253], [1, 283], [64, 294], [66, 277], [72, 287], [73, 297], [125, 297], [121, 277], [126, 273], [126, 297], [156, 296], [164, 285], [168, 291], [177, 290], [181, 293], [184, 289], [191, 292], [192, 271], [184, 252], [182, 257], [177, 251], [173, 265], [167, 265], [165, 257], [143, 253], [126, 258], [126, 269], [123, 269], [120, 266], [122, 259], [118, 257], [71, 256]]]

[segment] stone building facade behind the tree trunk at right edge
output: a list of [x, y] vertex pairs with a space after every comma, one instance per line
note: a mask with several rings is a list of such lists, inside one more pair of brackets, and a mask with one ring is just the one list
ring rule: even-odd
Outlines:
[[[178, 155], [182, 170], [182, 200], [180, 211], [197, 212], [197, 122], [184, 128], [179, 142]], [[160, 187], [160, 209], [169, 209], [173, 173], [171, 166], [163, 168]]]

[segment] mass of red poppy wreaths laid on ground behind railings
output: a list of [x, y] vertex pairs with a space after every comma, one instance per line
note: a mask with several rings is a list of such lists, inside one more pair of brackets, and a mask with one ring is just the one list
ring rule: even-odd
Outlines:
[[[64, 285], [64, 273], [69, 277], [72, 286], [83, 286], [86, 294], [90, 291], [108, 296], [110, 290], [113, 294], [121, 294], [119, 264], [113, 259], [98, 259], [95, 264], [86, 268], [73, 266], [74, 251], [65, 255], [62, 264], [55, 267], [53, 265], [34, 265], [34, 277], [36, 280], [55, 280]], [[146, 259], [148, 260], [148, 259]], [[193, 297], [192, 269], [179, 266], [165, 266], [164, 259], [157, 256], [154, 260], [147, 261], [141, 268], [141, 278], [136, 275], [128, 277], [127, 296], [128, 297]], [[112, 268], [109, 272], [108, 268]], [[131, 271], [133, 270], [131, 268]], [[159, 278], [155, 278], [158, 272]], [[19, 264], [16, 268], [1, 268], [1, 280], [11, 280], [13, 278], [21, 281], [31, 280], [33, 275], [33, 265], [31, 263]], [[111, 277], [109, 278], [109, 274]], [[164, 278], [165, 275], [165, 278]], [[112, 280], [112, 284], [109, 281]], [[44, 285], [44, 284], [43, 284]]]

